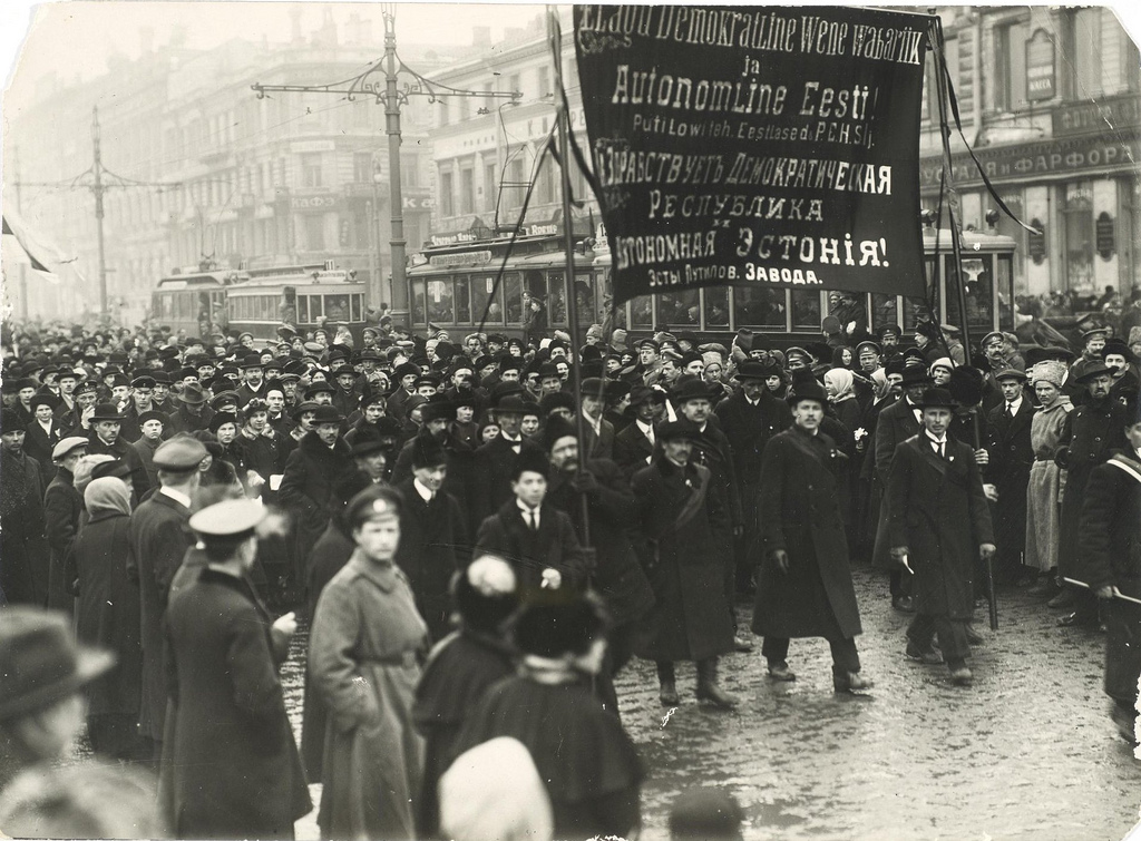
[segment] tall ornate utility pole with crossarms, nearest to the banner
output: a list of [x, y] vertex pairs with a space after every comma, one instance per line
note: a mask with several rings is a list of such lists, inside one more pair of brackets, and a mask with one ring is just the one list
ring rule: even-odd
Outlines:
[[[444, 97], [466, 98], [494, 98], [515, 102], [523, 98], [523, 94], [512, 91], [483, 91], [483, 90], [459, 90], [450, 88], [439, 82], [432, 82], [411, 70], [396, 54], [396, 7], [395, 3], [386, 3], [382, 11], [385, 17], [385, 55], [372, 64], [358, 76], [334, 82], [332, 84], [251, 84], [250, 88], [257, 94], [258, 99], [264, 99], [270, 92], [297, 92], [297, 94], [337, 94], [348, 102], [355, 102], [358, 96], [372, 96], [377, 104], [385, 106], [385, 134], [388, 136], [388, 178], [389, 201], [391, 202], [391, 234], [389, 245], [393, 258], [393, 278], [388, 290], [387, 299], [395, 312], [403, 312], [407, 308], [407, 280], [405, 275], [405, 238], [404, 238], [404, 208], [400, 194], [400, 106], [408, 102], [410, 97], [424, 96], [429, 103], [442, 102]], [[399, 87], [399, 73], [411, 75], [415, 81], [405, 82], [404, 88]], [[373, 74], [382, 74], [385, 79], [383, 89], [375, 82], [370, 81]], [[380, 208], [373, 211], [378, 218]], [[378, 258], [379, 264], [379, 258]], [[378, 304], [385, 299], [380, 278], [374, 278], [374, 285], [369, 290], [371, 304]]]

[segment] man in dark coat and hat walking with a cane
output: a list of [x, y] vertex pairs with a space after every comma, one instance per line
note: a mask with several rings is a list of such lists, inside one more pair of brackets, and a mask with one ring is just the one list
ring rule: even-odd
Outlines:
[[923, 431], [896, 448], [888, 478], [891, 555], [915, 575], [907, 656], [940, 662], [931, 645], [938, 634], [952, 681], [969, 686], [974, 559], [994, 555], [990, 511], [974, 451], [947, 435], [955, 411], [950, 393], [928, 389], [920, 406]]

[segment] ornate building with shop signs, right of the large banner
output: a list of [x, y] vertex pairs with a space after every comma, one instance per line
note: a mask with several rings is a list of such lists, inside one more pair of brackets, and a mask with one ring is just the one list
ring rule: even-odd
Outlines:
[[[1010, 209], [1015, 291], [1083, 297], [1141, 286], [1141, 65], [1108, 7], [944, 7], [962, 129]], [[929, 70], [931, 64], [929, 63]], [[921, 188], [938, 203], [944, 160], [933, 74], [923, 104]], [[949, 180], [964, 226], [996, 207], [954, 127]]]

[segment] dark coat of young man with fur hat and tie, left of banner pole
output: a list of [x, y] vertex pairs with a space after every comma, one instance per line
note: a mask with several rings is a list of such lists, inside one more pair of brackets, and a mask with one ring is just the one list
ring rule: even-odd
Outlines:
[[520, 591], [537, 590], [543, 569], [558, 569], [564, 587], [583, 581], [582, 547], [570, 518], [543, 502], [539, 509], [539, 529], [532, 531], [516, 504], [515, 496], [487, 517], [476, 534], [472, 558], [491, 553], [515, 568]]

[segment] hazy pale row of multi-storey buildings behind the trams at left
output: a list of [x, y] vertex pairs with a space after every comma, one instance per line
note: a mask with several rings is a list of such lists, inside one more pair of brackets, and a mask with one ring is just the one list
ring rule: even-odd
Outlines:
[[[99, 79], [56, 86], [33, 107], [6, 114], [6, 151], [18, 147], [19, 178], [63, 183], [25, 187], [25, 215], [78, 256], [86, 278], [30, 284], [26, 312], [51, 317], [98, 309], [94, 196], [65, 188], [66, 179], [91, 167], [94, 105], [103, 165], [123, 179], [104, 179], [111, 186], [104, 235], [113, 315], [141, 318], [159, 277], [201, 262], [332, 259], [357, 270], [372, 304], [389, 300], [381, 282], [391, 270], [383, 104], [367, 94], [350, 102], [323, 92], [258, 98], [251, 90], [253, 83], [324, 86], [357, 75], [381, 57], [382, 32], [354, 14], [339, 33], [326, 9], [322, 26], [305, 38], [297, 7], [291, 14], [286, 45], [238, 38], [210, 50], [177, 43], [148, 49], [137, 60], [114, 62]], [[418, 72], [454, 60], [407, 43], [399, 55]], [[383, 91], [382, 73], [369, 81]], [[399, 76], [400, 88], [414, 81]], [[427, 231], [431, 207], [423, 143], [429, 116], [426, 98], [410, 97], [400, 107], [402, 204], [413, 242]], [[13, 178], [10, 168], [6, 177]], [[9, 300], [17, 290], [9, 284]]]

